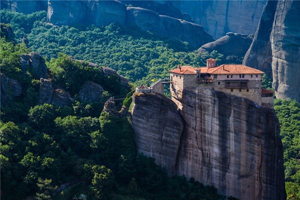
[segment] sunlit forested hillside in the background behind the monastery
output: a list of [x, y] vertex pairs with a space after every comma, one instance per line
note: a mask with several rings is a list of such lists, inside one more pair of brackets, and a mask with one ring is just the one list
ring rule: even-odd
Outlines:
[[23, 14], [0, 10], [0, 13], [1, 22], [11, 25], [18, 42], [27, 35], [28, 47], [48, 59], [64, 52], [113, 68], [130, 81], [147, 83], [153, 78], [164, 78], [177, 64], [204, 66], [209, 57], [217, 58], [219, 63], [240, 63], [242, 60], [236, 56], [224, 57], [216, 51], [210, 55], [188, 51], [187, 42], [161, 40], [136, 27], [118, 24], [82, 29], [58, 27], [45, 23], [45, 11]]

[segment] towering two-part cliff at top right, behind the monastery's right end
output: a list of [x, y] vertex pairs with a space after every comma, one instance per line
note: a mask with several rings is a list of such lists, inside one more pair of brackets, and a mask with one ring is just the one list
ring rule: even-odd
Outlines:
[[300, 101], [300, 1], [268, 1], [243, 64], [273, 76], [278, 98]]

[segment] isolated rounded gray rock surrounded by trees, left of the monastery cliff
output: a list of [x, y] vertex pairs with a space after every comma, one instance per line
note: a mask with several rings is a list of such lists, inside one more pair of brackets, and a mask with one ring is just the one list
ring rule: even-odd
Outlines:
[[92, 81], [85, 81], [79, 91], [79, 99], [84, 102], [99, 101], [102, 97], [103, 87]]

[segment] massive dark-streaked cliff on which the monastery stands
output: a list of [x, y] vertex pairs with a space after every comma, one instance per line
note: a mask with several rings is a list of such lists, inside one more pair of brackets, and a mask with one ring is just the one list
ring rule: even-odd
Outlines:
[[[159, 103], [160, 96], [134, 95], [131, 120], [135, 142], [142, 144], [137, 145], [139, 151], [153, 156], [166, 169], [172, 168], [173, 163], [161, 160], [176, 158], [176, 174], [214, 185], [226, 195], [239, 199], [286, 198], [279, 123], [272, 111], [210, 88], [183, 92], [171, 88], [171, 95], [173, 101], [164, 101], [176, 102], [181, 108], [181, 133], [180, 118], [173, 107]], [[175, 123], [159, 122], [156, 118], [162, 118], [161, 109], [173, 113]], [[159, 123], [163, 125], [158, 126]], [[160, 139], [164, 135], [169, 135], [167, 142]], [[173, 153], [153, 153], [166, 143], [172, 146]], [[155, 148], [149, 148], [150, 145]]]

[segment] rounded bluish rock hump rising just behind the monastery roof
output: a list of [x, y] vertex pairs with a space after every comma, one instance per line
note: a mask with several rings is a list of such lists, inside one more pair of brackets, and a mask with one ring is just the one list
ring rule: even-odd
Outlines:
[[235, 55], [238, 57], [244, 56], [248, 50], [252, 39], [249, 35], [227, 32], [225, 36], [202, 45], [198, 51], [210, 53], [217, 50], [224, 56]]

